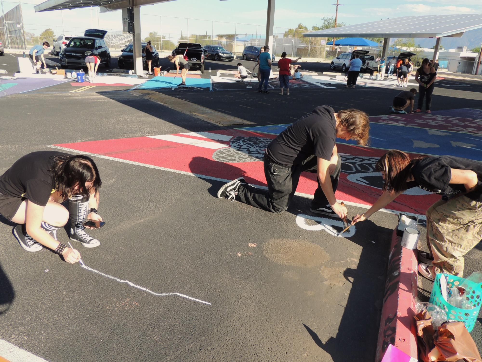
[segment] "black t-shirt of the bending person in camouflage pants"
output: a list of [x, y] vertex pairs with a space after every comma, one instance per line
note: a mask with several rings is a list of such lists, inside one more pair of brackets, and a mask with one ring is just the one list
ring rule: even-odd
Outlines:
[[409, 188], [418, 186], [426, 191], [447, 195], [465, 192], [465, 187], [460, 183], [449, 183], [452, 178], [451, 168], [472, 170], [477, 174], [479, 182], [477, 188], [466, 196], [475, 201], [482, 201], [482, 162], [455, 156], [430, 156], [415, 161], [412, 175], [415, 181], [407, 182]]

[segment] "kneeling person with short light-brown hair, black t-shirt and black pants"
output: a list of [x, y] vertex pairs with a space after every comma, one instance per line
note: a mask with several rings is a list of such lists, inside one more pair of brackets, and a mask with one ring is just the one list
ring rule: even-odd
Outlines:
[[355, 139], [360, 145], [366, 145], [369, 129], [368, 115], [363, 111], [335, 112], [328, 106], [317, 107], [268, 145], [264, 158], [268, 190], [251, 186], [240, 177], [223, 185], [217, 196], [271, 212], [282, 212], [288, 209], [295, 195], [301, 172], [308, 171], [318, 175], [318, 188], [310, 210], [343, 218], [347, 209], [335, 198], [341, 170], [335, 138]]

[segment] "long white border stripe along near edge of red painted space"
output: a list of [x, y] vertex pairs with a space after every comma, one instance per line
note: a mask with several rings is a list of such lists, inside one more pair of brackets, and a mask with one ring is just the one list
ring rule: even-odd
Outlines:
[[[161, 166], [147, 165], [147, 164], [143, 164], [143, 163], [136, 162], [136, 161], [123, 160], [123, 159], [121, 159], [121, 158], [104, 156], [103, 154], [97, 154], [97, 153], [90, 153], [90, 152], [84, 152], [84, 151], [74, 150], [74, 149], [72, 149], [72, 148], [67, 148], [67, 147], [54, 146], [54, 145], [50, 145], [50, 146], [47, 146], [47, 147], [56, 148], [56, 149], [58, 149], [58, 150], [63, 150], [63, 151], [71, 152], [71, 153], [74, 153], [74, 154], [86, 154], [86, 155], [88, 155], [88, 156], [93, 156], [93, 157], [98, 157], [98, 158], [104, 158], [104, 159], [106, 159], [106, 160], [119, 161], [119, 162], [123, 162], [123, 163], [126, 163], [126, 164], [131, 164], [131, 165], [136, 165], [136, 166], [143, 166], [143, 167], [155, 168], [155, 169], [163, 170], [163, 171], [180, 173], [181, 175], [196, 176], [196, 177], [198, 177], [198, 178], [200, 178], [200, 179], [214, 180], [214, 181], [221, 181], [221, 182], [229, 182], [229, 181], [232, 181], [232, 180], [227, 180], [227, 179], [220, 179], [220, 178], [218, 178], [218, 177], [213, 177], [213, 176], [201, 175], [201, 174], [199, 174], [199, 173], [192, 173], [192, 172], [187, 172], [187, 171], [175, 170], [175, 169], [173, 169], [173, 168], [167, 168], [167, 167], [161, 167]], [[268, 190], [268, 187], [266, 187], [266, 186], [258, 186], [258, 185], [252, 185], [252, 186], [258, 187], [258, 188], [260, 188], [260, 189]], [[310, 198], [310, 199], [313, 198], [313, 195], [303, 194], [303, 193], [301, 193], [301, 192], [295, 192], [295, 195], [297, 195], [297, 196], [302, 196], [302, 197], [306, 197], [306, 198]], [[359, 204], [358, 202], [351, 202], [351, 201], [345, 201], [345, 200], [338, 200], [338, 201], [340, 201], [340, 202], [341, 202], [341, 201], [344, 201], [345, 204], [347, 204], [347, 205], [356, 206], [356, 207], [362, 208], [362, 209], [370, 209], [370, 208], [372, 207], [371, 205]], [[405, 215], [417, 216], [418, 218], [425, 220], [425, 215], [414, 214], [414, 213], [412, 213], [412, 212], [402, 212], [402, 211], [395, 211], [395, 210], [389, 210], [389, 209], [380, 209], [380, 211], [387, 212], [387, 213], [389, 213], [389, 214], [400, 214], [400, 213], [402, 213], [402, 214], [405, 214]]]

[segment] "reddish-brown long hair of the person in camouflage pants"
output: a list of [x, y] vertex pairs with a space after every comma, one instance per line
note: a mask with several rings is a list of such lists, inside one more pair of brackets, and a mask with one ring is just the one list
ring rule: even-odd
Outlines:
[[398, 150], [390, 150], [380, 157], [375, 168], [385, 174], [383, 192], [399, 193], [407, 189], [407, 179], [412, 172], [415, 161], [428, 157], [426, 154], [419, 155], [413, 160], [407, 153]]

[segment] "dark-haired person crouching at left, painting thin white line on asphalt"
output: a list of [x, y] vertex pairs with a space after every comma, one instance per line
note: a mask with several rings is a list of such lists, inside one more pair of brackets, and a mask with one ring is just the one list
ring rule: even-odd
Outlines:
[[[56, 231], [67, 222], [70, 240], [86, 248], [100, 243], [85, 233], [86, 219], [102, 221], [99, 171], [92, 158], [57, 151], [28, 153], [0, 176], [0, 213], [17, 223], [13, 235], [26, 251], [42, 246], [68, 263], [80, 260], [79, 251], [57, 241]], [[68, 210], [60, 203], [68, 201]], [[89, 227], [90, 228], [90, 227]]]

